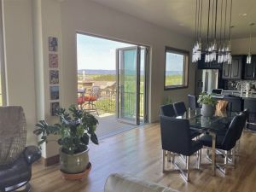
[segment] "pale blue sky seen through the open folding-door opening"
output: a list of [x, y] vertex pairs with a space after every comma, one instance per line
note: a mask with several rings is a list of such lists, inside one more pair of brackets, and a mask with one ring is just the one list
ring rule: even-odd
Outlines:
[[77, 34], [78, 69], [115, 70], [115, 49], [131, 46], [134, 45]]

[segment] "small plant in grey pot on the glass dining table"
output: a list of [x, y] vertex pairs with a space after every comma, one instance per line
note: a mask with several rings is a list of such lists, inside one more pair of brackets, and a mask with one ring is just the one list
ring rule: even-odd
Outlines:
[[212, 98], [212, 95], [208, 95], [207, 93], [201, 93], [198, 98], [198, 103], [201, 104], [201, 115], [205, 117], [212, 117], [215, 113], [215, 105], [216, 101]]

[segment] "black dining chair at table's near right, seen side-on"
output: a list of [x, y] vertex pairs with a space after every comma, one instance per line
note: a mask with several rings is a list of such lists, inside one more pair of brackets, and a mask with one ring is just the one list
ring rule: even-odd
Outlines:
[[[220, 164], [216, 164], [221, 172], [226, 173], [226, 166], [228, 165], [228, 160], [230, 156], [230, 152], [232, 155], [232, 161], [235, 161], [235, 152], [233, 151], [236, 146], [236, 141], [239, 135], [239, 132], [242, 129], [244, 124], [244, 116], [236, 115], [229, 126], [228, 131], [225, 135], [217, 135], [216, 136], [216, 148], [220, 150], [224, 150], [224, 166]], [[200, 137], [199, 141], [206, 147], [212, 148], [212, 136], [204, 135]]]

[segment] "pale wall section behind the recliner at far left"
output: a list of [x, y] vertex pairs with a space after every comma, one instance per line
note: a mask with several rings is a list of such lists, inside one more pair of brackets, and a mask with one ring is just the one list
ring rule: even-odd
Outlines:
[[36, 123], [36, 97], [31, 0], [4, 0], [3, 15], [7, 104], [24, 108], [27, 144], [33, 144], [36, 142], [32, 134]]

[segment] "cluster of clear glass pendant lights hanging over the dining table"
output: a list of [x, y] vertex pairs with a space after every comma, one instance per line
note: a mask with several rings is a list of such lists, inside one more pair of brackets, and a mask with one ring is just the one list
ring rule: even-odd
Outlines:
[[[225, 3], [224, 3], [225, 1]], [[212, 4], [212, 5], [211, 5]], [[202, 17], [202, 0], [196, 0], [195, 11], [195, 45], [193, 48], [192, 61], [201, 60], [201, 20]], [[224, 5], [224, 26], [223, 26], [223, 5]], [[228, 6], [230, 5], [230, 25], [227, 22]], [[212, 6], [212, 8], [211, 8]], [[205, 49], [205, 62], [217, 61], [218, 63], [227, 62], [231, 64], [231, 18], [232, 18], [232, 0], [221, 1], [220, 11], [220, 35], [219, 44], [217, 44], [217, 21], [218, 21], [218, 0], [208, 0], [207, 13], [207, 47]], [[200, 22], [199, 22], [200, 21]], [[211, 25], [211, 34], [210, 34]], [[224, 27], [224, 34], [223, 28]], [[228, 31], [229, 30], [229, 31]], [[229, 32], [229, 34], [228, 34]], [[199, 36], [200, 34], [200, 36]], [[226, 37], [227, 35], [227, 37]], [[211, 38], [210, 38], [211, 36]]]

